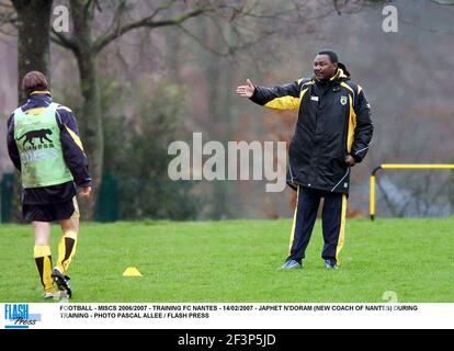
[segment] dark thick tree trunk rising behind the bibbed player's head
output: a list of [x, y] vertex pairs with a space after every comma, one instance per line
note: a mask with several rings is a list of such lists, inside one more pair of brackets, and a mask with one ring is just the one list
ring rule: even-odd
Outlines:
[[22, 92], [22, 78], [31, 70], [43, 72], [50, 81], [49, 47], [52, 0], [13, 0], [18, 13], [18, 98], [26, 99]]

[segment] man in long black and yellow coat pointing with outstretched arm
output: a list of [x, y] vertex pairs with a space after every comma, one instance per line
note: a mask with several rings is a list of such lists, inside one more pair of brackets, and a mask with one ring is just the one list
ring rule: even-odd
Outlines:
[[320, 52], [315, 76], [275, 88], [237, 88], [240, 97], [270, 109], [298, 111], [290, 145], [287, 183], [297, 191], [290, 254], [282, 269], [299, 269], [309, 244], [320, 199], [325, 199], [322, 259], [337, 269], [344, 242], [350, 170], [361, 162], [372, 139], [371, 106], [331, 50]]

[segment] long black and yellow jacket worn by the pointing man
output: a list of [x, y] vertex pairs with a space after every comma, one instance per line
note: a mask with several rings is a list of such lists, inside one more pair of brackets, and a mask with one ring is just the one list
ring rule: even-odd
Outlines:
[[370, 103], [359, 84], [339, 68], [325, 82], [311, 78], [275, 88], [257, 86], [251, 100], [269, 109], [298, 111], [288, 149], [287, 182], [293, 189], [349, 192], [345, 157], [361, 162], [374, 129]]

